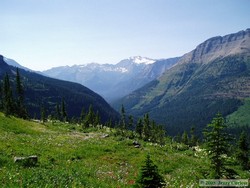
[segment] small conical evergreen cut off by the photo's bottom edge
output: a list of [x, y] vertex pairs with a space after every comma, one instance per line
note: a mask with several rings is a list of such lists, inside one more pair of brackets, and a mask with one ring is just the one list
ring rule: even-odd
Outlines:
[[159, 188], [164, 187], [165, 181], [158, 172], [158, 167], [150, 159], [148, 154], [145, 164], [141, 167], [140, 173], [136, 180], [135, 187], [142, 188]]

